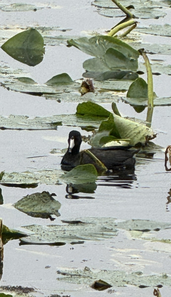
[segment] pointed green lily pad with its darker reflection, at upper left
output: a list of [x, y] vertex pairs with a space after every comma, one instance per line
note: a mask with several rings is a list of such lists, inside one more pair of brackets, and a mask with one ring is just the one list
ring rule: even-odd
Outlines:
[[44, 40], [36, 29], [29, 29], [10, 38], [1, 48], [15, 60], [36, 66], [43, 60]]

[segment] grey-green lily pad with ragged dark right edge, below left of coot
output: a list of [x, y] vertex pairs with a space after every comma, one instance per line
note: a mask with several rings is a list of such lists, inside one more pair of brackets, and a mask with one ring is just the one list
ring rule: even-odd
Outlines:
[[28, 216], [54, 220], [51, 214], [55, 214], [55, 216], [59, 217], [60, 213], [58, 210], [61, 204], [52, 196], [56, 195], [54, 193], [50, 195], [49, 192], [46, 191], [34, 193], [23, 197], [13, 206], [19, 211], [28, 214]]

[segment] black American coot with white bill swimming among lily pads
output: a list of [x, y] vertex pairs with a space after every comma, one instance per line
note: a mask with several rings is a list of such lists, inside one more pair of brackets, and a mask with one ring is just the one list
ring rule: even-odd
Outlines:
[[[95, 165], [91, 157], [86, 154], [86, 151], [79, 151], [81, 142], [80, 132], [73, 130], [69, 133], [68, 150], [61, 161], [62, 169], [69, 171], [78, 165]], [[135, 169], [135, 158], [133, 156], [139, 150], [130, 149], [130, 146], [110, 146], [106, 148], [92, 148], [89, 149], [89, 151], [94, 154], [108, 170], [116, 172], [132, 168]]]

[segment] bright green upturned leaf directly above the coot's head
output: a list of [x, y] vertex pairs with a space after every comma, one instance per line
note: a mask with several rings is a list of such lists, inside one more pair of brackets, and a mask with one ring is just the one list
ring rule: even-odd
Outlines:
[[82, 114], [82, 115], [91, 114], [95, 116], [104, 116], [104, 117], [110, 116], [110, 112], [108, 110], [90, 101], [79, 103], [76, 108], [76, 113]]

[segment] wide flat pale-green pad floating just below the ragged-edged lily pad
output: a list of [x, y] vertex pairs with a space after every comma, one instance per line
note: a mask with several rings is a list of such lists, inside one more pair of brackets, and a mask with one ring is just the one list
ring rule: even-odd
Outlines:
[[[110, 219], [109, 219], [110, 220]], [[113, 219], [114, 221], [115, 219]], [[66, 222], [66, 221], [65, 221]], [[67, 220], [66, 223], [60, 225], [30, 225], [24, 226], [27, 230], [33, 233], [25, 238], [27, 243], [71, 243], [82, 244], [84, 240], [104, 240], [106, 238], [113, 238], [117, 235], [116, 229], [108, 224], [108, 218], [100, 218], [93, 221], [91, 218], [79, 220]]]

